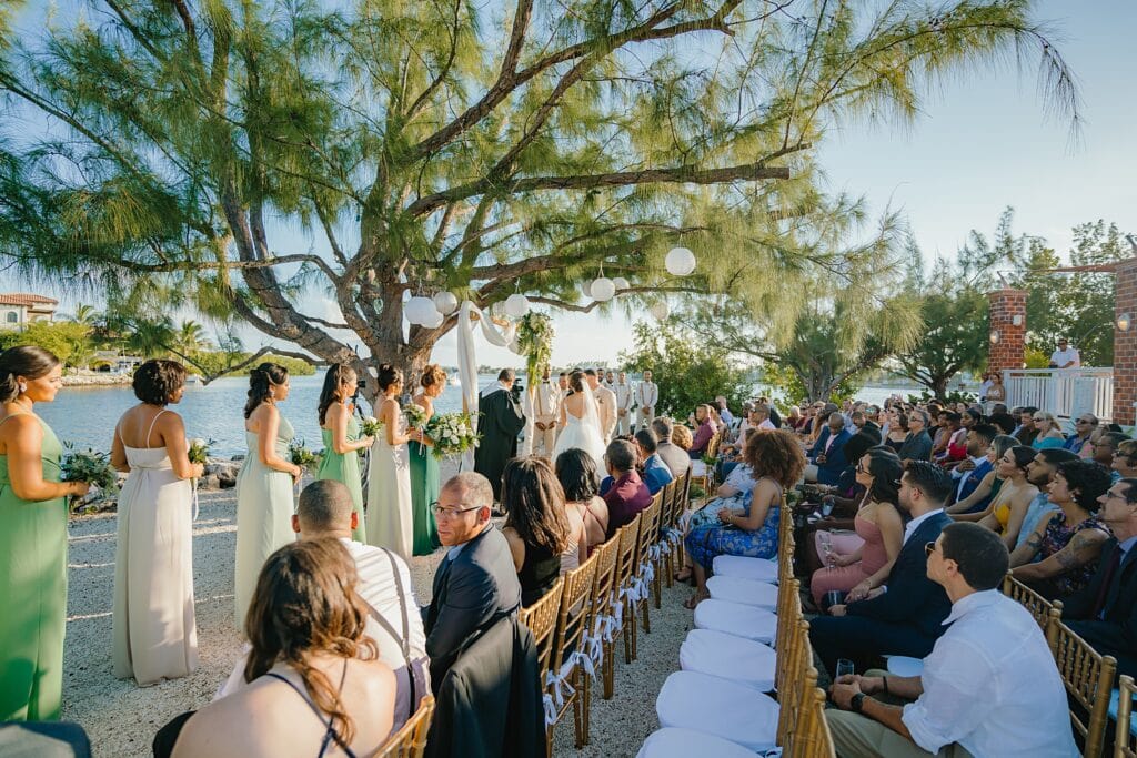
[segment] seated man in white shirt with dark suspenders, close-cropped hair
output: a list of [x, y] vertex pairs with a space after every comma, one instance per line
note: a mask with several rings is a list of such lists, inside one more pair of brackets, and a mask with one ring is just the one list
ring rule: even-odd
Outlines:
[[[347, 486], [334, 480], [319, 480], [300, 493], [292, 531], [301, 540], [339, 540], [355, 559], [359, 574], [356, 591], [367, 603], [367, 636], [375, 641], [379, 659], [395, 672], [392, 730], [398, 730], [431, 691], [426, 633], [407, 563], [384, 548], [354, 542], [351, 531], [357, 527], [358, 518]], [[244, 656], [217, 697], [244, 686], [243, 674]]]

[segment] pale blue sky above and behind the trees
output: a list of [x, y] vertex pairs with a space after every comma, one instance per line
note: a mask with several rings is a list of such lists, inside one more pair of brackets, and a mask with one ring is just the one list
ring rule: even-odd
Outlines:
[[[1046, 0], [1036, 7], [1057, 31], [1057, 47], [1078, 77], [1085, 119], [1078, 141], [1069, 139], [1067, 122], [1047, 118], [1032, 68], [972, 70], [926, 93], [912, 125], [830, 132], [819, 151], [828, 189], [864, 195], [871, 217], [902, 211], [929, 259], [954, 256], [972, 228], [989, 235], [1009, 206], [1016, 233], [1043, 236], [1060, 255], [1077, 224], [1102, 218], [1137, 233], [1137, 2]], [[26, 289], [10, 277], [0, 284]], [[50, 294], [64, 311], [74, 306], [66, 292]], [[615, 364], [631, 347], [631, 322], [622, 314], [553, 316], [554, 365]], [[244, 338], [247, 348], [262, 341], [252, 330]], [[476, 351], [480, 364], [522, 363], [480, 338]], [[457, 364], [455, 332], [433, 358]]]

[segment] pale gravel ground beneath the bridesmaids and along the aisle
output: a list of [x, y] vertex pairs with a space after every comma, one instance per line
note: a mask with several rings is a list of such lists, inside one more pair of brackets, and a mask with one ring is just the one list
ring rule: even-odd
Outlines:
[[[238, 657], [240, 640], [232, 620], [235, 495], [232, 490], [202, 494], [200, 505], [193, 530], [193, 585], [201, 663], [190, 676], [149, 688], [116, 680], [111, 669], [116, 516], [76, 519], [69, 527], [64, 718], [83, 725], [98, 758], [149, 756], [155, 732], [177, 714], [207, 703]], [[430, 600], [431, 577], [441, 557], [440, 550], [412, 561], [421, 603]], [[640, 633], [636, 663], [624, 665], [617, 645], [615, 697], [594, 699], [591, 744], [575, 750], [570, 713], [556, 730], [557, 756], [634, 756], [657, 728], [656, 694], [679, 667], [679, 645], [691, 627], [691, 613], [680, 605], [689, 592], [686, 585], [664, 589], [662, 610], [652, 611], [652, 634]]]

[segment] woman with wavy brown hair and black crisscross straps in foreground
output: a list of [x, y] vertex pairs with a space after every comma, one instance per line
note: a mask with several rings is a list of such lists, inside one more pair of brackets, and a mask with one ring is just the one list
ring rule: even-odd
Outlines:
[[271, 555], [244, 620], [246, 685], [174, 722], [182, 728], [173, 755], [374, 755], [391, 733], [396, 683], [365, 634], [357, 586], [339, 540], [302, 540]]

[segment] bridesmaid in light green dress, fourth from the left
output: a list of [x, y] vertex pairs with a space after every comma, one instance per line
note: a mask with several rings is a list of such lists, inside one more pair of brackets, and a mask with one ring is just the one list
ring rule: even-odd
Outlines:
[[351, 492], [351, 502], [355, 503], [355, 513], [359, 514], [359, 526], [351, 531], [351, 539], [366, 542], [359, 450], [370, 448], [375, 438], [359, 438], [359, 422], [348, 407], [358, 390], [359, 381], [355, 369], [347, 364], [332, 364], [319, 393], [319, 428], [324, 440], [324, 457], [319, 460], [316, 478], [335, 480], [347, 485]]

